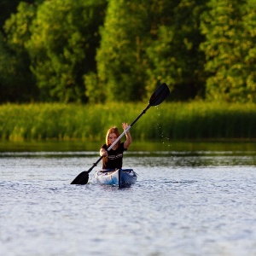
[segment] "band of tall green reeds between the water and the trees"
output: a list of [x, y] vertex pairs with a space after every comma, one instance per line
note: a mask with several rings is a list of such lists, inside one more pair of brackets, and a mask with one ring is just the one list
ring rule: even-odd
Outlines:
[[[131, 123], [147, 103], [106, 105], [6, 104], [0, 106], [0, 139], [102, 141], [109, 126]], [[137, 139], [253, 139], [255, 104], [162, 103], [132, 127]]]

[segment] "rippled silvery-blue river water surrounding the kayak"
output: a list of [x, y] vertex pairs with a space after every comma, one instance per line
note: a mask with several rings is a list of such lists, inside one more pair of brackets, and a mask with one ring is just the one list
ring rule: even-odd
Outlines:
[[127, 152], [131, 188], [69, 184], [97, 159], [0, 153], [1, 254], [256, 255], [256, 152]]

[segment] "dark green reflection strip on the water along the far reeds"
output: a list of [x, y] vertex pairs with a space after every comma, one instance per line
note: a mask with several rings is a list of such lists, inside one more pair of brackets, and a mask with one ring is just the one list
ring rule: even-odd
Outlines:
[[[0, 152], [0, 157], [5, 158], [95, 158], [99, 157], [98, 152]], [[194, 151], [194, 152], [126, 152], [125, 159], [140, 158], [143, 166], [254, 166], [256, 165], [256, 151]], [[129, 160], [128, 160], [129, 161]], [[91, 163], [93, 164], [93, 162]]]

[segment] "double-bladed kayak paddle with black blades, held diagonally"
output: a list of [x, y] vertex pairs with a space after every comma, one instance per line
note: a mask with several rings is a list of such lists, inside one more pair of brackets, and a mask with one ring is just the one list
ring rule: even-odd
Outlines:
[[[148, 106], [147, 108], [145, 108], [143, 110], [142, 113], [140, 113], [137, 117], [137, 119], [135, 119], [131, 125], [129, 125], [125, 131], [114, 141], [114, 143], [108, 148], [108, 151], [113, 148], [113, 146], [119, 142], [120, 138], [123, 137], [125, 135], [125, 133], [127, 131], [129, 131], [131, 129], [131, 126], [134, 125], [138, 119], [141, 118], [141, 116], [143, 115], [143, 113], [146, 113], [146, 111], [148, 110], [148, 108], [152, 107], [152, 106], [157, 106], [159, 105], [161, 102], [163, 102], [167, 96], [169, 96], [170, 94], [170, 90], [168, 88], [168, 86], [166, 85], [166, 83], [161, 84], [155, 91], [154, 94], [150, 97], [149, 102], [148, 102]], [[96, 163], [93, 164], [93, 166], [90, 167], [90, 169], [86, 172], [81, 172], [79, 173], [79, 175], [77, 177], [75, 177], [75, 179], [73, 180], [73, 182], [71, 184], [78, 184], [78, 185], [84, 185], [86, 183], [88, 183], [88, 179], [89, 179], [89, 173], [92, 171], [92, 169], [98, 164], [98, 162], [100, 160], [102, 160], [103, 156], [101, 156]]]

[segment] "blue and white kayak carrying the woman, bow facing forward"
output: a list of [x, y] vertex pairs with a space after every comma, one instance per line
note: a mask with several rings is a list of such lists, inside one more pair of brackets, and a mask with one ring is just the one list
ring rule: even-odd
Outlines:
[[132, 169], [100, 170], [90, 179], [90, 183], [113, 185], [119, 188], [130, 187], [136, 181], [137, 174]]

